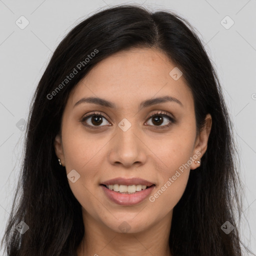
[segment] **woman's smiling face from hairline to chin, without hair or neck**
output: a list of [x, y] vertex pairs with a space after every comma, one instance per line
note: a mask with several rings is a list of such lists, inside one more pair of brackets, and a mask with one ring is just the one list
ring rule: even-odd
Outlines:
[[[179, 75], [162, 52], [137, 48], [100, 61], [70, 93], [54, 144], [84, 218], [116, 232], [171, 220], [211, 125], [207, 115], [196, 136], [193, 97]], [[106, 101], [114, 107], [99, 104]]]

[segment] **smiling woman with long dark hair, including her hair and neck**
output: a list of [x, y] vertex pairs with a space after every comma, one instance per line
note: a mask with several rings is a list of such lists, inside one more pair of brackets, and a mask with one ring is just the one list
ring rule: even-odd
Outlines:
[[185, 19], [122, 5], [83, 20], [29, 117], [8, 255], [241, 255], [230, 120]]

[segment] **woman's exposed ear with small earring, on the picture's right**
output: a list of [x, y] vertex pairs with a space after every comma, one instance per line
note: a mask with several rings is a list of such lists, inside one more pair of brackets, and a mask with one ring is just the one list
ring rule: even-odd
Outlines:
[[206, 117], [205, 117], [205, 123], [195, 140], [193, 155], [197, 155], [198, 157], [196, 159], [193, 158], [193, 161], [190, 165], [190, 169], [195, 169], [198, 166], [200, 166], [200, 163], [195, 163], [194, 161], [196, 160], [200, 161], [200, 158], [203, 156], [203, 154], [207, 149], [208, 138], [211, 130], [211, 123], [212, 123], [211, 115], [208, 113], [206, 114]]

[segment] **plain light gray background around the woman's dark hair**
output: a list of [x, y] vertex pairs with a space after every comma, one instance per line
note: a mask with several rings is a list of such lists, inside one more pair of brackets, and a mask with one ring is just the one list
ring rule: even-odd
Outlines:
[[[239, 150], [245, 192], [241, 239], [256, 253], [256, 0], [0, 0], [0, 239], [23, 156], [20, 119], [27, 120], [31, 96], [53, 50], [83, 18], [108, 5], [132, 2], [186, 18], [214, 62]], [[29, 21], [24, 29], [15, 23], [25, 24], [21, 15]], [[226, 15], [234, 21], [228, 29]]]

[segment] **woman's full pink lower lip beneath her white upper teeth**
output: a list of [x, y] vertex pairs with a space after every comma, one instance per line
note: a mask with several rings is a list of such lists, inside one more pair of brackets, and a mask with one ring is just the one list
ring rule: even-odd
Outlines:
[[134, 205], [139, 202], [142, 202], [153, 190], [154, 185], [143, 189], [141, 191], [135, 192], [134, 194], [122, 194], [119, 192], [115, 192], [114, 190], [110, 190], [104, 185], [101, 185], [103, 191], [106, 196], [113, 202], [120, 205]]

